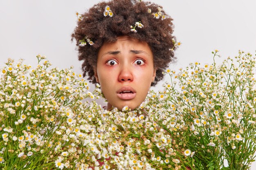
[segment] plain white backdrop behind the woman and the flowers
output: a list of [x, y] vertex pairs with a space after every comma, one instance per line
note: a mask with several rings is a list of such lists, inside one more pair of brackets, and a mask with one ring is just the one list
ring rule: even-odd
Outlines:
[[[47, 56], [53, 66], [81, 73], [71, 33], [76, 12], [83, 13], [99, 0], [0, 0], [0, 66], [8, 57], [24, 58], [36, 66], [36, 55]], [[255, 54], [256, 1], [254, 0], [151, 0], [162, 5], [175, 24], [174, 35], [182, 42], [172, 68], [190, 62], [213, 62], [211, 51], [222, 58], [241, 49]], [[154, 89], [160, 89], [162, 82]], [[252, 170], [256, 170], [253, 163]]]

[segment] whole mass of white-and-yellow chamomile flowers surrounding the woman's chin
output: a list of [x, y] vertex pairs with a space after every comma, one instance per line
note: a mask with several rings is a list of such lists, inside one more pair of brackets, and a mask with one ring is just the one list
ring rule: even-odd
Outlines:
[[[218, 51], [214, 51], [215, 58]], [[251, 54], [190, 64], [135, 110], [104, 110], [100, 85], [69, 69], [11, 59], [0, 68], [3, 170], [247, 170], [256, 150]]]

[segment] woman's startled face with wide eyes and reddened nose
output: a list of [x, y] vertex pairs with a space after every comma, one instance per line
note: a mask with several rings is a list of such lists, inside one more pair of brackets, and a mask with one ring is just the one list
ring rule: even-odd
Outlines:
[[111, 106], [137, 108], [155, 80], [153, 53], [146, 42], [127, 36], [104, 43], [98, 53], [96, 81]]

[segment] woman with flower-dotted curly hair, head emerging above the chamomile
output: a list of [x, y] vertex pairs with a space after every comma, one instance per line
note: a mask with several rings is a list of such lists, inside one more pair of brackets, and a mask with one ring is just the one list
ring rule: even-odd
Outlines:
[[137, 108], [175, 58], [172, 18], [159, 5], [140, 0], [100, 2], [77, 15], [72, 39], [83, 76], [101, 85], [108, 110]]

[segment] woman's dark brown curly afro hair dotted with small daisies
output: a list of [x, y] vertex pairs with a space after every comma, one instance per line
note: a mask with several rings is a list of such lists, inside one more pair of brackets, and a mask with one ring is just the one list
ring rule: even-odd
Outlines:
[[[106, 6], [109, 6], [113, 16], [104, 16]], [[148, 13], [151, 9], [152, 13]], [[166, 18], [157, 19], [153, 13], [161, 12]], [[160, 13], [160, 15], [161, 15]], [[104, 42], [115, 42], [118, 36], [129, 36], [140, 41], [147, 42], [153, 53], [154, 68], [156, 68], [154, 86], [163, 79], [162, 72], [173, 62], [175, 46], [173, 39], [172, 18], [167, 15], [162, 7], [151, 2], [141, 0], [111, 0], [100, 2], [81, 15], [77, 26], [72, 33], [72, 40], [76, 40], [79, 60], [83, 60], [83, 76], [88, 75], [92, 83], [97, 83], [94, 77], [94, 69], [97, 66], [98, 52]], [[137, 33], [131, 31], [131, 25], [141, 21], [142, 28], [136, 28]], [[79, 46], [80, 40], [90, 38], [94, 44]], [[173, 50], [170, 50], [173, 49]]]

